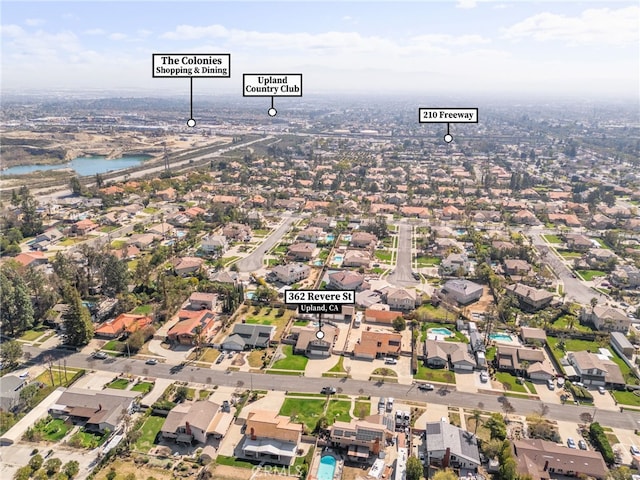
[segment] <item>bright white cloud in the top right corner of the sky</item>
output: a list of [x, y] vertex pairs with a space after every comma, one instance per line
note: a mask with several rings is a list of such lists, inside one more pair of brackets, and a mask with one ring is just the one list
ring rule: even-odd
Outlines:
[[561, 41], [577, 45], [631, 45], [638, 43], [639, 7], [618, 10], [589, 9], [580, 16], [568, 17], [539, 13], [504, 30], [505, 38], [533, 38], [537, 41]]

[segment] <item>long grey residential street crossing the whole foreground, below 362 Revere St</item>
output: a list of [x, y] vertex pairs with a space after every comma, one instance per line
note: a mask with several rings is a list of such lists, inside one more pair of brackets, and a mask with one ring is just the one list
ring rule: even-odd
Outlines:
[[[83, 353], [72, 353], [65, 350], [41, 350], [36, 347], [24, 347], [24, 351], [31, 355], [32, 362], [44, 364], [45, 357], [52, 359], [66, 359], [70, 367], [85, 369], [108, 370], [110, 372], [126, 372], [134, 375], [169, 378], [180, 381], [220, 385], [244, 389], [258, 390], [285, 390], [286, 385], [295, 385], [296, 392], [318, 393], [324, 386], [333, 386], [339, 393], [348, 395], [371, 395], [378, 397], [393, 397], [396, 399], [408, 399], [439, 405], [451, 405], [463, 408], [480, 408], [482, 410], [500, 412], [501, 397], [482, 393], [467, 393], [454, 390], [455, 387], [445, 387], [431, 392], [422, 392], [414, 385], [401, 385], [397, 383], [366, 382], [352, 379], [331, 379], [297, 377], [295, 381], [291, 377], [283, 378], [280, 375], [252, 374], [246, 372], [225, 372], [196, 366], [170, 365], [159, 363], [149, 366], [143, 360], [129, 358], [110, 358], [96, 360]], [[534, 400], [509, 398], [509, 403], [514, 407], [515, 414], [526, 415], [540, 411], [541, 403]], [[588, 413], [597, 418], [602, 425], [635, 430], [640, 426], [640, 412], [618, 412], [602, 410], [594, 407], [582, 407], [575, 405], [547, 404], [546, 417], [551, 420], [562, 420], [576, 423], [584, 423], [580, 415]]]

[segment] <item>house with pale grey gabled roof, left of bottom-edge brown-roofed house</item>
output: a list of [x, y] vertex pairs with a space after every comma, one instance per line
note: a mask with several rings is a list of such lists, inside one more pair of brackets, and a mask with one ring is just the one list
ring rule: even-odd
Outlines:
[[480, 466], [476, 436], [447, 421], [427, 423], [423, 445], [428, 465], [472, 472]]

